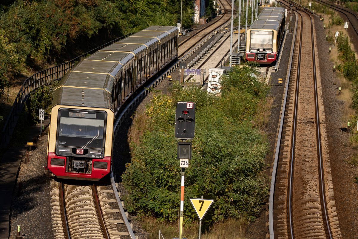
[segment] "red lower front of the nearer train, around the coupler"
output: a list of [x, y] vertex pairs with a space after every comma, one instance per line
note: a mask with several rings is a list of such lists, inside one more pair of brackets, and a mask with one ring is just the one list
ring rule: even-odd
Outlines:
[[57, 156], [49, 152], [47, 168], [58, 178], [98, 181], [110, 172], [111, 157], [102, 159]]

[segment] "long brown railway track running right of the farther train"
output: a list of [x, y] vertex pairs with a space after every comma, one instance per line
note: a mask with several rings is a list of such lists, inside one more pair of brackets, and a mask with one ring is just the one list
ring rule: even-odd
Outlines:
[[314, 20], [306, 11], [296, 10], [296, 21], [275, 145], [267, 237], [342, 238], [330, 174]]

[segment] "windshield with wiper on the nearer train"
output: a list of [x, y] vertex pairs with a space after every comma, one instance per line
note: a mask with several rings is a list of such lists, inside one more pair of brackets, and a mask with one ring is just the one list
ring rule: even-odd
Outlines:
[[57, 145], [74, 148], [103, 148], [105, 112], [63, 110], [59, 112]]

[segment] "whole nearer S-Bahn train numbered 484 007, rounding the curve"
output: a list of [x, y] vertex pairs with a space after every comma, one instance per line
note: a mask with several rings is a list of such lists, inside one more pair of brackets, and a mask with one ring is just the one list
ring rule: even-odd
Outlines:
[[110, 172], [120, 106], [178, 57], [178, 28], [148, 27], [79, 62], [54, 91], [47, 169], [57, 178], [98, 181]]

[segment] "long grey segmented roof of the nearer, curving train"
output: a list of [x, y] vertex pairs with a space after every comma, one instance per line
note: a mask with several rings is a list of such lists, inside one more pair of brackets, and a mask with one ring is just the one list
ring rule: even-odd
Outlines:
[[122, 67], [136, 54], [177, 32], [177, 27], [152, 26], [97, 51], [66, 73], [55, 89], [52, 106], [78, 105], [113, 110], [113, 81]]

